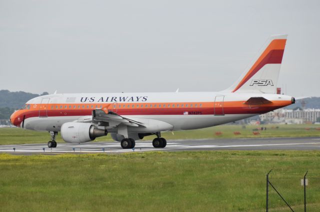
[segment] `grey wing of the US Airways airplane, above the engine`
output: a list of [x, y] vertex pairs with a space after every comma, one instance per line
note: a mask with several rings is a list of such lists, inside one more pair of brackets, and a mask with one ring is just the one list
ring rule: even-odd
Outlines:
[[141, 122], [125, 118], [111, 111], [105, 113], [103, 110], [100, 109], [92, 111], [92, 121], [108, 123], [109, 126], [117, 126], [119, 124], [123, 124], [131, 127], [145, 127], [144, 124]]

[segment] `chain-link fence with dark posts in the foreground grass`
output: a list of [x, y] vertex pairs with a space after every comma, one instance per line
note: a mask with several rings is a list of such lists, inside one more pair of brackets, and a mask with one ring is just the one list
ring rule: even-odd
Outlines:
[[320, 176], [270, 172], [266, 175], [266, 212], [320, 212]]

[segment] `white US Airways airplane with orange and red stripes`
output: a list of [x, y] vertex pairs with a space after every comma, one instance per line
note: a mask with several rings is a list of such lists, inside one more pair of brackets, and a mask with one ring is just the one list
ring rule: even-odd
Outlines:
[[229, 88], [219, 92], [68, 93], [27, 101], [10, 121], [22, 129], [48, 131], [49, 148], [61, 133], [67, 143], [84, 143], [108, 133], [123, 149], [154, 135], [154, 148], [164, 148], [161, 132], [221, 125], [295, 103], [276, 93], [287, 35], [272, 35], [252, 64]]

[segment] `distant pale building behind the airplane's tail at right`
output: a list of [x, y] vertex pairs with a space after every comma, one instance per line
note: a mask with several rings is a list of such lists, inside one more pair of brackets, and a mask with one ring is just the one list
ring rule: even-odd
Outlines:
[[269, 113], [259, 115], [265, 123], [304, 124], [315, 123], [320, 117], [320, 109], [288, 110], [277, 109]]

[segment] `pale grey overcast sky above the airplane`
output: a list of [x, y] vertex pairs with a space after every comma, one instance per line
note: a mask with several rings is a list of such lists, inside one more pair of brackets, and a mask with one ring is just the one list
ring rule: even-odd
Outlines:
[[219, 91], [271, 34], [277, 87], [320, 96], [318, 0], [0, 0], [0, 90]]

